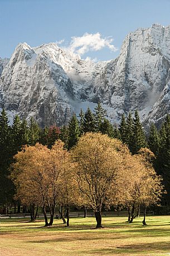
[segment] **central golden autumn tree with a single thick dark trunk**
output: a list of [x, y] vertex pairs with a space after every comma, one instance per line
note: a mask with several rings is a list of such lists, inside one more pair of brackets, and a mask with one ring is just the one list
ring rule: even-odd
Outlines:
[[95, 212], [96, 228], [102, 227], [102, 206], [111, 202], [116, 190], [119, 170], [124, 168], [124, 151], [121, 142], [100, 133], [86, 133], [72, 150], [75, 179], [85, 202]]

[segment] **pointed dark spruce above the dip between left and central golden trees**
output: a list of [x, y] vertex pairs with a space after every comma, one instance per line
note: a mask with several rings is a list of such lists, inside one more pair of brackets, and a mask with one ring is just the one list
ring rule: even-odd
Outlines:
[[68, 126], [68, 142], [67, 142], [67, 148], [68, 150], [70, 150], [70, 148], [72, 148], [73, 146], [76, 145], [78, 139], [79, 139], [79, 122], [76, 118], [76, 115], [72, 115], [72, 118], [69, 122], [69, 126]]

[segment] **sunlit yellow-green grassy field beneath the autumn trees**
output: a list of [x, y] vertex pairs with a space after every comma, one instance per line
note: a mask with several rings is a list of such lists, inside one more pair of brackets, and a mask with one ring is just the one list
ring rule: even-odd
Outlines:
[[170, 255], [170, 216], [142, 217], [127, 224], [125, 217], [103, 217], [104, 229], [96, 230], [95, 218], [71, 218], [54, 226], [28, 219], [1, 222], [0, 255]]

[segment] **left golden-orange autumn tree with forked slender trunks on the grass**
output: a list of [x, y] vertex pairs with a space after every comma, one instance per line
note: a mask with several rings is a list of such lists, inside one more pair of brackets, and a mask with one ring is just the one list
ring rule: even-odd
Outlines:
[[[22, 202], [38, 203], [43, 208], [45, 226], [54, 221], [56, 204], [63, 187], [63, 175], [69, 167], [69, 152], [64, 143], [57, 141], [51, 150], [36, 144], [25, 147], [15, 156], [12, 177], [17, 186], [16, 197]], [[47, 220], [46, 206], [50, 209], [50, 222]]]

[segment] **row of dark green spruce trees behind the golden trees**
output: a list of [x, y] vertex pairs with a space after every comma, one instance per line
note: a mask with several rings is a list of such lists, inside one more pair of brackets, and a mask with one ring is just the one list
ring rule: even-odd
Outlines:
[[170, 204], [170, 118], [167, 115], [158, 131], [154, 124], [150, 127], [148, 139], [140, 122], [138, 111], [122, 115], [118, 127], [112, 125], [107, 119], [106, 110], [98, 103], [94, 113], [88, 108], [85, 113], [80, 110], [78, 117], [72, 115], [68, 125], [59, 128], [56, 125], [40, 128], [36, 121], [31, 118], [27, 123], [25, 119], [20, 120], [18, 115], [14, 117], [10, 126], [7, 113], [3, 109], [0, 115], [0, 203], [7, 211], [7, 207], [13, 202], [14, 187], [8, 178], [9, 166], [13, 156], [21, 150], [23, 145], [35, 145], [37, 142], [51, 147], [56, 139], [65, 143], [67, 150], [76, 145], [78, 139], [86, 132], [101, 132], [108, 134], [111, 138], [118, 138], [126, 143], [130, 152], [137, 153], [142, 147], [148, 147], [156, 156], [153, 165], [158, 174], [163, 176], [163, 182], [167, 190], [163, 203]]

